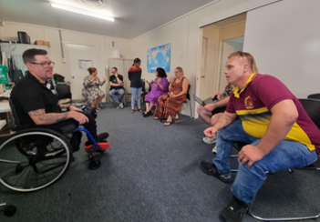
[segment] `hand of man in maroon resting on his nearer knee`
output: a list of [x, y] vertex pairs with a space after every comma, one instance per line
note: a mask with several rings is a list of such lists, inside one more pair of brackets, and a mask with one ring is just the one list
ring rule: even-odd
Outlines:
[[242, 150], [239, 152], [239, 160], [241, 161], [241, 164], [244, 165], [249, 161], [249, 168], [253, 166], [254, 162], [261, 160], [263, 156], [263, 151], [257, 146], [252, 145], [243, 146]]

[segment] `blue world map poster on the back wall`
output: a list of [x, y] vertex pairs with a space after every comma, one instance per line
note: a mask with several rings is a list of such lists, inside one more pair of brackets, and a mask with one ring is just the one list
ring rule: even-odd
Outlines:
[[147, 51], [148, 73], [156, 72], [158, 67], [163, 68], [167, 73], [170, 72], [170, 43], [150, 48]]

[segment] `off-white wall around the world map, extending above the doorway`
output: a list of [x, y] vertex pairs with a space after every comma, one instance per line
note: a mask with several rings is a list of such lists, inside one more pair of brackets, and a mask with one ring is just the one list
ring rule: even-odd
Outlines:
[[[133, 55], [142, 60], [142, 76], [150, 79], [154, 74], [147, 72], [147, 50], [167, 43], [171, 44], [171, 70], [169, 76], [173, 76], [174, 67], [181, 66], [184, 74], [191, 84], [190, 93], [196, 92], [197, 56], [199, 48], [199, 22], [212, 14], [221, 13], [235, 5], [241, 5], [253, 0], [223, 0], [209, 5], [201, 10], [182, 17], [181, 19], [164, 25], [146, 35], [141, 35], [131, 41]], [[185, 106], [187, 108], [187, 106]], [[192, 103], [194, 111], [194, 103]], [[183, 111], [183, 110], [182, 110]], [[186, 113], [188, 113], [187, 111]], [[194, 114], [194, 112], [193, 112]]]

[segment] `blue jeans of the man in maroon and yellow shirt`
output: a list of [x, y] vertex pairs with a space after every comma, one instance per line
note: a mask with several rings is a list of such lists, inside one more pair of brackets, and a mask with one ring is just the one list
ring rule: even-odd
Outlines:
[[[234, 121], [231, 125], [218, 131], [217, 156], [212, 161], [218, 170], [226, 176], [231, 175], [229, 159], [232, 154], [233, 141], [257, 146], [260, 138], [245, 133], [241, 120]], [[247, 166], [248, 163], [242, 165], [238, 160], [239, 172], [231, 188], [232, 194], [246, 204], [250, 204], [266, 179], [266, 171], [274, 173], [277, 170], [300, 168], [314, 163], [317, 158], [315, 150], [310, 151], [307, 146], [298, 142], [283, 140], [250, 168]]]

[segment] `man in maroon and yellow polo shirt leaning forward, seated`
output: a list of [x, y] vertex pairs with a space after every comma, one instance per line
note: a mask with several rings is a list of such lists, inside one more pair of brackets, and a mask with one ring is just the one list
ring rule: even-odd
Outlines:
[[233, 142], [249, 144], [239, 153], [233, 200], [220, 215], [225, 221], [243, 220], [267, 172], [310, 165], [320, 154], [320, 130], [299, 100], [274, 76], [258, 72], [253, 55], [229, 55], [224, 74], [235, 87], [219, 122], [204, 131], [216, 137], [217, 156], [213, 163], [202, 161], [201, 169], [223, 183], [232, 182]]

